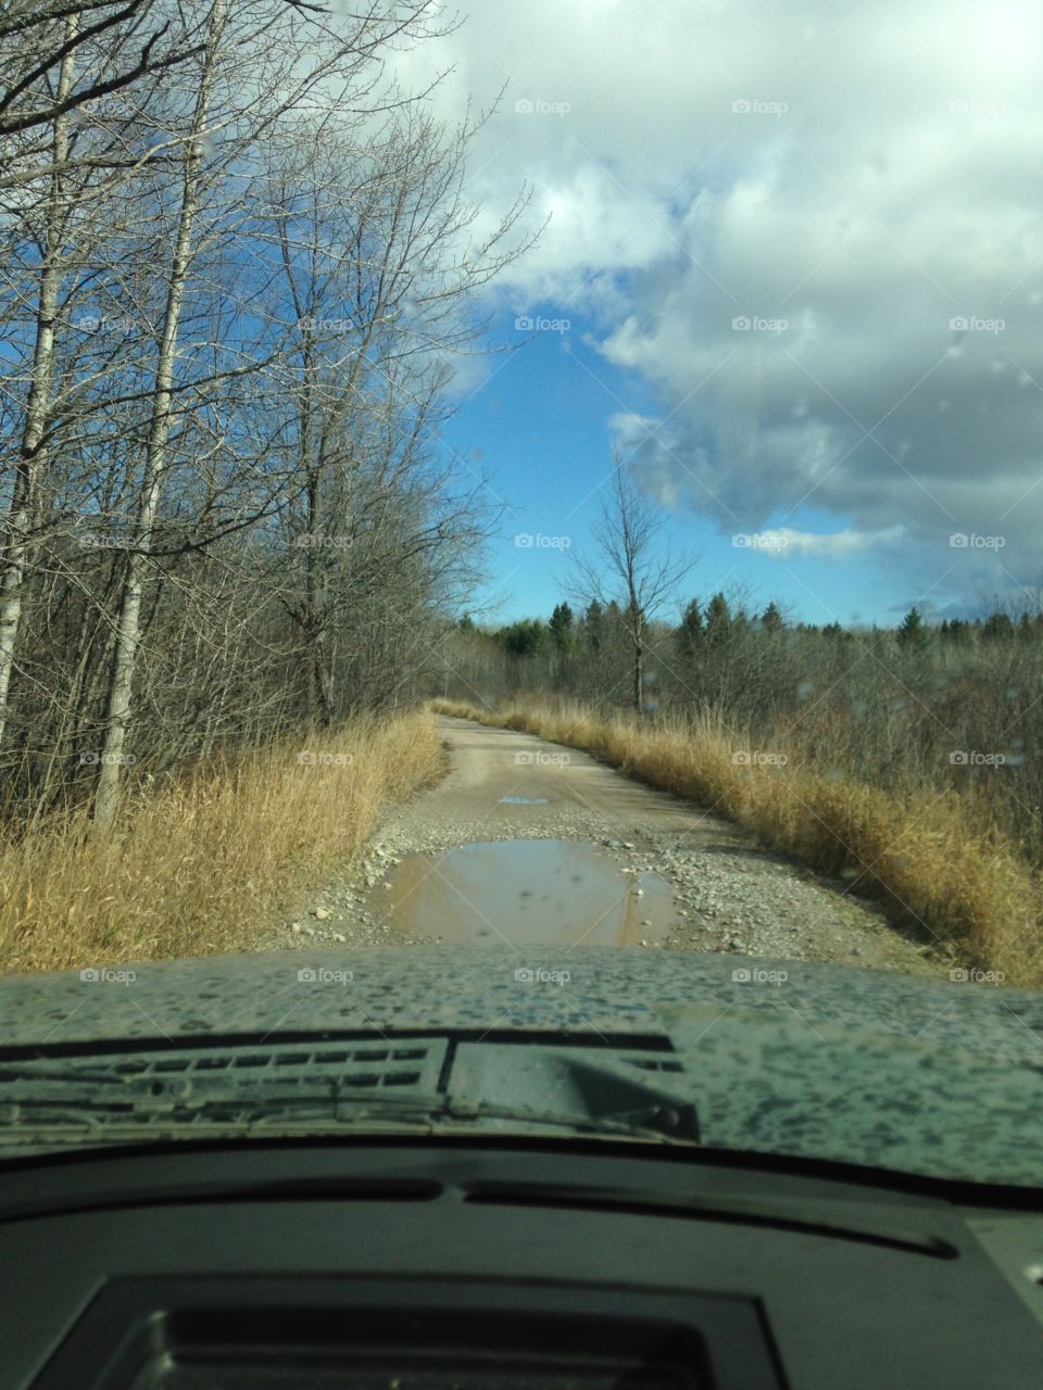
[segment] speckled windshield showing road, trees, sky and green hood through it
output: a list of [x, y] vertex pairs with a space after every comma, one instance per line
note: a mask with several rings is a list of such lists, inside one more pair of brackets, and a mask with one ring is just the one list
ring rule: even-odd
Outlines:
[[1043, 1184], [1042, 25], [0, 19], [6, 1140]]

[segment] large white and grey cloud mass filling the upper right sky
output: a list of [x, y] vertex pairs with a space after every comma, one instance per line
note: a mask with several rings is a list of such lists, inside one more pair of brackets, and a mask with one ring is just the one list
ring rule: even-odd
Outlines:
[[[666, 423], [612, 428], [665, 502], [726, 532], [805, 505], [844, 518], [793, 531], [800, 553], [900, 527], [926, 582], [961, 582], [954, 530], [1001, 534], [1028, 582], [1042, 31], [980, 0], [474, 0], [438, 100], [508, 83], [471, 192], [491, 218], [528, 178], [534, 221], [553, 217], [506, 291], [592, 316], [606, 364], [649, 384]], [[516, 114], [519, 96], [570, 110]]]

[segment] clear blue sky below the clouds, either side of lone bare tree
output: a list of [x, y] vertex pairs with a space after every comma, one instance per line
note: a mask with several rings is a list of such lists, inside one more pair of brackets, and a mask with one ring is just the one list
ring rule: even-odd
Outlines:
[[[530, 317], [553, 314], [548, 306], [534, 306]], [[584, 341], [588, 332], [574, 318], [567, 332], [527, 335], [494, 360], [488, 381], [464, 398], [442, 430], [445, 443], [471, 459], [476, 473], [483, 470], [490, 500], [503, 509], [490, 546], [490, 582], [476, 596], [481, 621], [545, 617], [570, 598], [569, 552], [595, 553], [591, 525], [617, 439], [611, 420], [622, 409], [644, 413], [655, 406], [649, 385], [606, 364]], [[843, 530], [843, 518], [811, 506], [793, 516], [780, 510], [763, 530], [783, 524], [823, 534]], [[670, 620], [687, 599], [718, 589], [758, 612], [773, 599], [794, 621], [808, 623], [887, 624], [908, 607], [901, 581], [882, 591], [879, 567], [868, 556], [789, 563], [780, 546], [733, 543], [733, 537], [748, 534], [722, 531], [697, 512], [663, 507], [663, 539], [698, 559], [677, 603], [662, 616]], [[519, 543], [528, 537], [531, 546]]]

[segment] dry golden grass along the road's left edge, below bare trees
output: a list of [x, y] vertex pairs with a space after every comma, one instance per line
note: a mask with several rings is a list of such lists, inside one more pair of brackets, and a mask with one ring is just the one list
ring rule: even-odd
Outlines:
[[[302, 763], [300, 753], [314, 755]], [[444, 752], [427, 712], [140, 788], [117, 833], [85, 817], [0, 841], [0, 963], [68, 970], [249, 949], [259, 927], [350, 860]]]

